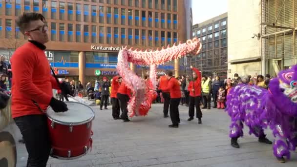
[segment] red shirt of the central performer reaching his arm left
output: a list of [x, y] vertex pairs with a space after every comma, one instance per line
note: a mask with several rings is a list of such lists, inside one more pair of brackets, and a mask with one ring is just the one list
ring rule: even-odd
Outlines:
[[168, 80], [168, 85], [167, 87], [161, 89], [163, 92], [169, 92], [170, 93], [170, 98], [181, 98], [181, 92], [180, 92], [180, 85], [175, 78], [170, 78]]

